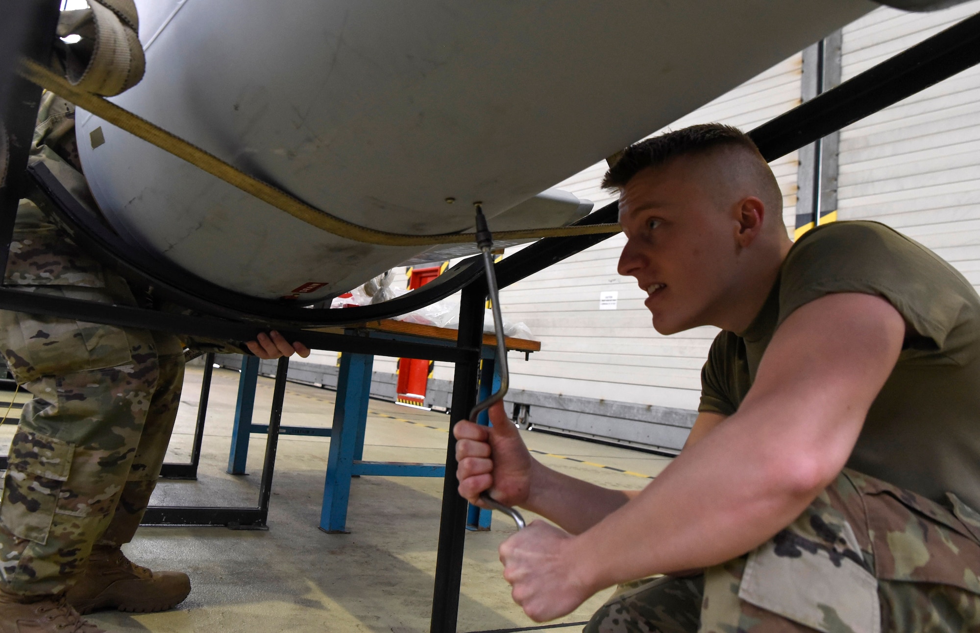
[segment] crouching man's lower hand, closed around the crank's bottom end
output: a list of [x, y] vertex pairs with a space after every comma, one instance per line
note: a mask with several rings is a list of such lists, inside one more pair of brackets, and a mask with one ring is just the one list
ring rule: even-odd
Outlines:
[[567, 615], [598, 591], [577, 568], [576, 537], [542, 520], [500, 544], [511, 597], [535, 622]]

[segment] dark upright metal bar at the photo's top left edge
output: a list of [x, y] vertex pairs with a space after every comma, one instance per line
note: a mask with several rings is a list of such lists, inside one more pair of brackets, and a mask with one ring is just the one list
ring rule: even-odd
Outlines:
[[[29, 25], [29, 31], [23, 34], [21, 40], [24, 43], [22, 52], [25, 57], [47, 66], [51, 59], [61, 3], [58, 0], [31, 0], [21, 5], [16, 13], [25, 20], [25, 24]], [[14, 7], [11, 7], [11, 10], [13, 9]], [[3, 20], [7, 21], [6, 5], [3, 13]], [[15, 16], [10, 16], [10, 19], [15, 19]], [[13, 64], [17, 64], [18, 56], [14, 57]], [[17, 206], [26, 191], [27, 155], [30, 152], [37, 108], [41, 102], [41, 88], [24, 77], [20, 75], [10, 77], [9, 86], [8, 98], [3, 104], [3, 109], [6, 111], [3, 123], [7, 130], [8, 166], [6, 178], [0, 174], [0, 182], [3, 183], [0, 186], [0, 280], [4, 278], [7, 268], [10, 240], [14, 235], [14, 221], [17, 219]]]

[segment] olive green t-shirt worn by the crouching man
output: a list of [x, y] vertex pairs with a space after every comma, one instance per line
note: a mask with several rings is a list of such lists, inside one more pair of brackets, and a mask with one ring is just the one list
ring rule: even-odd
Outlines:
[[834, 222], [793, 245], [749, 328], [723, 330], [711, 344], [698, 411], [734, 414], [779, 324], [835, 292], [884, 297], [916, 332], [848, 466], [934, 501], [949, 491], [980, 508], [980, 297], [955, 268], [884, 224]]

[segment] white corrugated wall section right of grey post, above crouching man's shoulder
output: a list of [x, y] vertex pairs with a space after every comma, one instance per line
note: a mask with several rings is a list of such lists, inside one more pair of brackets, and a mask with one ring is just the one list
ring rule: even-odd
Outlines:
[[[977, 12], [980, 2], [878, 9], [844, 29], [843, 78]], [[980, 286], [980, 67], [844, 129], [838, 209], [838, 219], [895, 227]]]

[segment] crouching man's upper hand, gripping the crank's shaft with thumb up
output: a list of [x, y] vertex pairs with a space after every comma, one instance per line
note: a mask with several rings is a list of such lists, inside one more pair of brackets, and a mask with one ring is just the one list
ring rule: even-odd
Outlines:
[[491, 407], [489, 414], [491, 426], [460, 420], [453, 428], [460, 496], [471, 504], [485, 507], [479, 496], [489, 489], [500, 503], [520, 506], [527, 501], [537, 462], [504, 412], [504, 403]]

